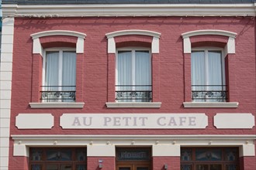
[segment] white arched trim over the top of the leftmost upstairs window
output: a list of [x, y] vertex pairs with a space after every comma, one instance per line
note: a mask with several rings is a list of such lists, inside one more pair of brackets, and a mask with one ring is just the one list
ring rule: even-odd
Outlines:
[[44, 32], [36, 32], [30, 35], [33, 39], [33, 53], [39, 53], [43, 56], [43, 47], [40, 43], [40, 37], [44, 36], [75, 36], [78, 38], [76, 42], [76, 53], [84, 53], [84, 41], [86, 34], [68, 30], [50, 30]]

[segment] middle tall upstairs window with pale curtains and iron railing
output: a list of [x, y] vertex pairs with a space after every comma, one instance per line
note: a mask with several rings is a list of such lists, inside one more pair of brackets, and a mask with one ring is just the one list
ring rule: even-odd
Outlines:
[[150, 102], [152, 100], [149, 49], [117, 51], [116, 100], [119, 102]]

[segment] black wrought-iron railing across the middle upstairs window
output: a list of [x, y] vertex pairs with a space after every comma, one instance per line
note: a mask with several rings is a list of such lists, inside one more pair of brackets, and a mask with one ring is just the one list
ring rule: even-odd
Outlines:
[[116, 100], [119, 102], [151, 102], [151, 85], [116, 85]]

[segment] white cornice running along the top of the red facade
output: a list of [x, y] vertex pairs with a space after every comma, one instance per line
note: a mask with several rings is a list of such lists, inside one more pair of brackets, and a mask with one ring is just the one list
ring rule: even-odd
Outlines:
[[254, 16], [255, 4], [2, 5], [9, 16]]

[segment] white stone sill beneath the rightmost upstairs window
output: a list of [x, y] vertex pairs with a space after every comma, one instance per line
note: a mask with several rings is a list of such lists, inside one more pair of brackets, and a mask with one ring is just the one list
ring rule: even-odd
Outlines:
[[238, 102], [183, 102], [184, 107], [237, 108]]

